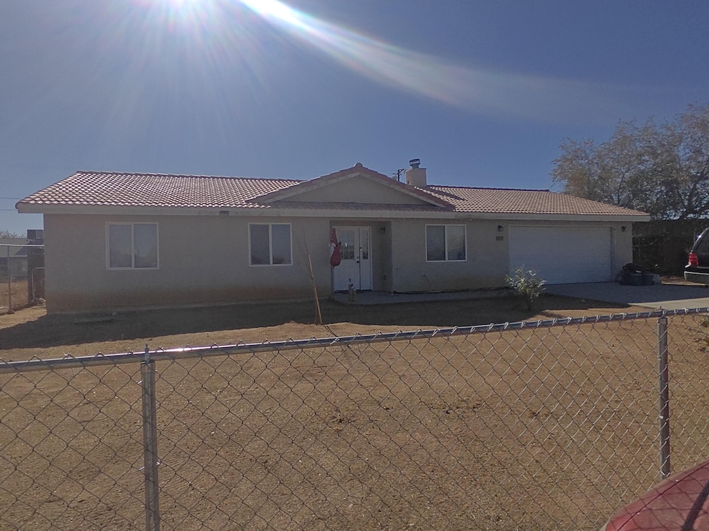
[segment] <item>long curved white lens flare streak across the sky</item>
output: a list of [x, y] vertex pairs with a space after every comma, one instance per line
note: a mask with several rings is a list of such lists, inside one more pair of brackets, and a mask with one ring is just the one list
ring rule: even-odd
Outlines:
[[[543, 78], [454, 64], [396, 47], [328, 23], [278, 0], [240, 0], [295, 38], [381, 84], [477, 113], [566, 121], [569, 115], [610, 111], [610, 101], [632, 97], [618, 86]], [[612, 98], [609, 97], [612, 94]], [[620, 104], [618, 105], [620, 108]], [[615, 113], [618, 109], [612, 110]]]

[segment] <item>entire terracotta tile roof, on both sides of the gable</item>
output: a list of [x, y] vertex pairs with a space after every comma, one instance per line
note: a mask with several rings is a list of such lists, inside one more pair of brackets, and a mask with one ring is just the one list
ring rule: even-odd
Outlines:
[[[361, 165], [360, 165], [361, 166]], [[361, 171], [360, 166], [353, 169]], [[350, 169], [351, 170], [351, 169]], [[367, 170], [367, 169], [364, 169]], [[371, 170], [367, 170], [371, 171]], [[328, 181], [342, 170], [320, 178]], [[373, 172], [372, 173], [376, 173]], [[380, 174], [376, 173], [379, 178]], [[381, 179], [386, 176], [381, 176]], [[316, 179], [317, 181], [317, 179]], [[74, 205], [113, 207], [196, 207], [196, 208], [289, 208], [311, 210], [381, 210], [401, 212], [464, 212], [478, 214], [638, 216], [644, 212], [601, 202], [575, 198], [549, 190], [467, 188], [429, 185], [411, 188], [419, 197], [431, 198], [429, 205], [360, 205], [351, 202], [301, 202], [285, 193], [272, 201], [274, 193], [306, 185], [312, 181], [274, 178], [243, 178], [172, 175], [164, 173], [116, 173], [78, 171], [58, 183], [30, 195], [19, 205]], [[281, 194], [275, 194], [278, 197]], [[267, 202], [267, 198], [268, 202]], [[440, 205], [440, 206], [439, 206]], [[40, 209], [38, 209], [41, 211]]]

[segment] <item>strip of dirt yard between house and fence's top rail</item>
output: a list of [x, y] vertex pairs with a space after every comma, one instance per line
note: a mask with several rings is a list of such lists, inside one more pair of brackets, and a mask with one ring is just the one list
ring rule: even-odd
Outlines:
[[[57, 358], [65, 354], [122, 353], [145, 348], [254, 343], [288, 338], [435, 329], [584, 315], [623, 313], [605, 302], [542, 295], [535, 309], [516, 297], [350, 306], [321, 302], [323, 325], [313, 302], [242, 304], [209, 308], [155, 309], [93, 315], [47, 315], [29, 307], [0, 315], [0, 358]], [[637, 311], [631, 309], [630, 311]]]

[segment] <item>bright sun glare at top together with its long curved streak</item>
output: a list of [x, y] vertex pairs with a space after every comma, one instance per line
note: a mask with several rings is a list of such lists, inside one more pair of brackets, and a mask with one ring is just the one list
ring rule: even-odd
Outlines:
[[[190, 50], [209, 50], [208, 62], [223, 69], [225, 57], [240, 56], [250, 72], [264, 54], [277, 49], [276, 33], [306, 42], [343, 67], [379, 84], [457, 105], [477, 113], [554, 120], [579, 110], [579, 102], [598, 107], [608, 87], [480, 69], [450, 59], [398, 47], [354, 29], [298, 11], [280, 0], [132, 0], [147, 6], [150, 18], [190, 39]], [[277, 32], [263, 32], [254, 18]], [[202, 56], [204, 57], [204, 56]], [[232, 63], [233, 64], [233, 63]], [[604, 89], [604, 90], [601, 90]], [[608, 89], [608, 90], [606, 90]]]

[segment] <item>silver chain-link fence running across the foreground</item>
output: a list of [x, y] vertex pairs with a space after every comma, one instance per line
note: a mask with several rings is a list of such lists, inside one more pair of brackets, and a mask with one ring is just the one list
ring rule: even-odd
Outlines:
[[707, 312], [3, 362], [0, 529], [597, 530], [708, 455]]

